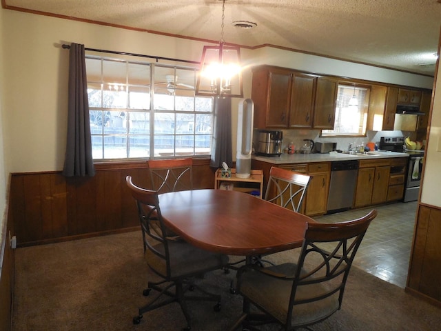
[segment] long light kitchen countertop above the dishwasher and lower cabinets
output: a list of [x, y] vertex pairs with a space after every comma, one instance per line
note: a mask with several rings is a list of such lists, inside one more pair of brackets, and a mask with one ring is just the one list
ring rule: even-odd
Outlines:
[[273, 164], [287, 164], [287, 163], [307, 163], [307, 162], [327, 162], [327, 161], [346, 161], [346, 160], [365, 160], [365, 159], [389, 159], [392, 157], [409, 157], [407, 153], [375, 151], [368, 152], [369, 154], [344, 154], [344, 153], [313, 153], [313, 154], [281, 154], [280, 157], [263, 157], [253, 155], [252, 159], [273, 163]]

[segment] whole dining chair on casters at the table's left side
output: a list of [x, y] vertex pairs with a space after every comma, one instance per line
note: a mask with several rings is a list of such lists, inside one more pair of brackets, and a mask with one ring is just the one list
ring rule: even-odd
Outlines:
[[[214, 310], [220, 310], [220, 295], [199, 288], [194, 283], [194, 279], [200, 279], [207, 272], [223, 268], [228, 263], [228, 257], [224, 254], [201, 250], [185, 241], [167, 239], [165, 234], [167, 229], [159, 206], [158, 192], [140, 188], [132, 182], [130, 176], [127, 176], [125, 180], [136, 201], [145, 260], [150, 270], [161, 278], [157, 282], [148, 282], [143, 294], [148, 296], [151, 290], [158, 293], [150, 302], [139, 308], [139, 314], [133, 318], [133, 323], [141, 323], [145, 312], [177, 302], [181, 305], [187, 321], [185, 330], [190, 330], [192, 321], [187, 309], [187, 301], [214, 301], [216, 302]], [[197, 295], [194, 292], [196, 290], [201, 294]]]

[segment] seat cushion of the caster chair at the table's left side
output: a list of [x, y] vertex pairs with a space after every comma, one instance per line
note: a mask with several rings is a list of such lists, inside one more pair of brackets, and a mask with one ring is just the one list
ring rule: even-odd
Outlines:
[[[192, 277], [205, 271], [220, 269], [228, 263], [228, 256], [217, 254], [207, 250], [201, 250], [185, 241], [168, 241], [170, 251], [170, 270], [167, 275], [167, 265], [165, 259], [158, 257], [151, 250], [145, 252], [147, 264], [163, 277], [176, 279], [182, 277]], [[163, 252], [163, 245], [154, 246], [156, 250]]]

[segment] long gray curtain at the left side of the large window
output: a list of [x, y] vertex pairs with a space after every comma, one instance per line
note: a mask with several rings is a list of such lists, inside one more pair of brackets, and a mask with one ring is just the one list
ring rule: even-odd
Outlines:
[[68, 141], [63, 175], [94, 176], [84, 45], [70, 44]]

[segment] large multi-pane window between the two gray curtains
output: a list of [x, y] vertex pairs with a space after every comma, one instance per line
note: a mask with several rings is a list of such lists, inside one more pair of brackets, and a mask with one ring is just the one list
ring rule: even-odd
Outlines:
[[211, 154], [214, 99], [196, 69], [86, 57], [92, 155], [136, 159]]

